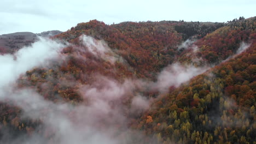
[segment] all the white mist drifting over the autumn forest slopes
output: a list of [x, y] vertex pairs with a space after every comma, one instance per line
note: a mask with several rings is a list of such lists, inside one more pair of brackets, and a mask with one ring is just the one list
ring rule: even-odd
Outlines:
[[[83, 61], [88, 61], [88, 57], [84, 57], [82, 52], [89, 52], [94, 58], [103, 59], [112, 65], [122, 59], [103, 40], [86, 35], [82, 35], [80, 40], [83, 45], [75, 48], [78, 55], [74, 56], [82, 58]], [[178, 49], [196, 47], [193, 43], [191, 40], [185, 41]], [[0, 56], [0, 100], [5, 102], [8, 99], [12, 105], [18, 106], [22, 110], [22, 118], [42, 122], [40, 129], [45, 132], [35, 132], [25, 140], [20, 136], [12, 141], [2, 139], [1, 142], [132, 143], [131, 131], [141, 137], [144, 137], [144, 134], [129, 128], [129, 116], [139, 116], [142, 112], [150, 110], [150, 105], [154, 101], [139, 92], [156, 89], [165, 93], [169, 87], [179, 87], [211, 68], [176, 62], [162, 69], [155, 82], [128, 78], [120, 82], [113, 77], [96, 73], [92, 75], [94, 81], [90, 83], [78, 83], [74, 79], [55, 80], [61, 85], [78, 87], [77, 92], [82, 102], [75, 105], [65, 101], [46, 100], [34, 88], [17, 88], [16, 80], [24, 76], [26, 71], [36, 67], [51, 68], [51, 64], [56, 61], [65, 62], [68, 57], [61, 53], [61, 50], [69, 45], [71, 44], [40, 38], [14, 55]], [[238, 53], [246, 50], [248, 45], [241, 47]], [[47, 83], [43, 83], [43, 86], [49, 87]]]

